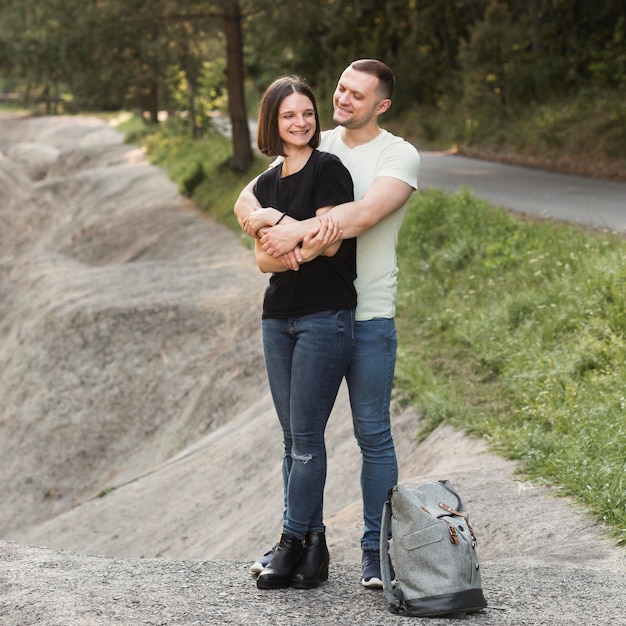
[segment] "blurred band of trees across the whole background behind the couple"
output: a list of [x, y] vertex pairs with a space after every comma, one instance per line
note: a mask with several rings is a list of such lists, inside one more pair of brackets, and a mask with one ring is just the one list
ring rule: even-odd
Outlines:
[[240, 167], [247, 116], [276, 76], [307, 79], [328, 121], [339, 73], [361, 57], [393, 68], [392, 117], [420, 108], [471, 126], [624, 94], [626, 0], [0, 0], [4, 94], [48, 113], [130, 108], [150, 124], [166, 111], [194, 136], [227, 112]]

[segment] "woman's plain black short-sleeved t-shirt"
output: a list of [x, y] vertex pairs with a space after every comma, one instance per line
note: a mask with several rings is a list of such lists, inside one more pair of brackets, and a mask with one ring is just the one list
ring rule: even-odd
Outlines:
[[[296, 220], [315, 216], [322, 207], [354, 199], [350, 173], [338, 157], [313, 150], [306, 165], [281, 178], [277, 165], [254, 186], [261, 206], [271, 206]], [[275, 272], [265, 291], [264, 318], [285, 318], [356, 307], [356, 239], [342, 241], [337, 254], [318, 256], [295, 272]]]

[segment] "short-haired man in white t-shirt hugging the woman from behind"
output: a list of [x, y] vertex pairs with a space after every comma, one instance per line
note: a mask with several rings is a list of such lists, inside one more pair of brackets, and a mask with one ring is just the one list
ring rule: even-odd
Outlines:
[[[396, 245], [408, 200], [417, 189], [420, 163], [411, 144], [378, 125], [378, 116], [391, 106], [394, 83], [391, 70], [380, 61], [351, 63], [341, 74], [333, 96], [333, 120], [338, 126], [322, 134], [320, 145], [320, 150], [341, 159], [354, 181], [355, 201], [333, 207], [321, 219], [334, 222], [343, 239], [358, 237], [355, 346], [346, 382], [362, 455], [361, 583], [377, 588], [382, 586], [381, 512], [389, 489], [398, 480], [390, 419], [397, 347]], [[264, 209], [267, 219], [261, 223], [253, 183], [235, 205], [240, 225], [248, 234], [261, 236], [265, 252], [282, 257], [288, 267], [297, 270], [303, 262], [299, 244], [314, 236], [320, 218], [298, 222], [274, 209]], [[255, 569], [264, 566], [270, 556], [262, 557]]]

